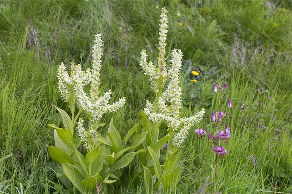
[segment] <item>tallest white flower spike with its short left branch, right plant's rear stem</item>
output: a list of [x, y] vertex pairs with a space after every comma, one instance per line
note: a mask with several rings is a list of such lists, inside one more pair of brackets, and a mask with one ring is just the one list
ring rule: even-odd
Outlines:
[[[168, 76], [167, 71], [166, 71], [166, 63], [165, 63], [165, 53], [166, 53], [166, 36], [167, 36], [167, 23], [168, 23], [168, 18], [166, 15], [167, 11], [165, 8], [162, 8], [161, 12], [161, 19], [160, 19], [160, 24], [159, 24], [159, 43], [158, 43], [158, 57], [157, 57], [157, 62], [158, 62], [158, 68], [153, 64], [152, 61], [149, 63], [147, 62], [147, 55], [146, 51], [143, 49], [141, 52], [141, 57], [140, 57], [140, 66], [144, 71], [144, 74], [149, 77], [149, 81], [151, 84], [152, 89], [154, 90], [155, 93], [158, 93], [159, 87], [163, 87], [166, 78]], [[159, 85], [159, 78], [160, 76], [162, 77], [162, 85]]]

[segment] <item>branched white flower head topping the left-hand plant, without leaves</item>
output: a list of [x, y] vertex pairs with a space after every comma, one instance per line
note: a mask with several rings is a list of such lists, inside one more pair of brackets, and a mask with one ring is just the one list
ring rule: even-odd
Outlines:
[[[111, 91], [105, 92], [103, 96], [98, 96], [100, 86], [100, 67], [103, 55], [101, 34], [95, 35], [92, 54], [92, 73], [90, 69], [82, 71], [81, 65], [71, 65], [71, 77], [68, 76], [65, 65], [59, 66], [59, 91], [65, 101], [68, 101], [70, 88], [73, 87], [79, 108], [88, 113], [93, 123], [98, 122], [104, 113], [118, 111], [124, 106], [125, 98], [119, 99], [113, 104], [109, 104]], [[84, 86], [91, 83], [90, 96], [84, 91]]]

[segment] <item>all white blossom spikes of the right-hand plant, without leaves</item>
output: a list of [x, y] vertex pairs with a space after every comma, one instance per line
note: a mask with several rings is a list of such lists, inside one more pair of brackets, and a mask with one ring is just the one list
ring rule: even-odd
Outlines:
[[[167, 36], [167, 11], [162, 9], [162, 18], [160, 20], [160, 32], [159, 32], [159, 54], [158, 54], [158, 65], [159, 69], [155, 68], [153, 63], [150, 61], [147, 63], [147, 55], [145, 50], [141, 52], [140, 65], [144, 70], [144, 74], [149, 77], [151, 86], [153, 87], [156, 94], [159, 90], [159, 79], [162, 76], [163, 86], [166, 82], [167, 77], [170, 78], [167, 88], [158, 98], [157, 104], [154, 105], [149, 101], [146, 101], [146, 108], [144, 113], [148, 116], [148, 119], [153, 122], [166, 121], [168, 127], [171, 127], [175, 131], [175, 137], [173, 144], [180, 146], [188, 135], [188, 130], [194, 124], [198, 124], [204, 116], [205, 110], [198, 111], [195, 116], [188, 118], [180, 118], [180, 109], [182, 106], [182, 88], [179, 86], [180, 82], [180, 69], [182, 66], [183, 53], [181, 50], [173, 49], [171, 52], [170, 69], [167, 72], [165, 63], [166, 53], [166, 36]], [[154, 107], [157, 106], [157, 107]]]

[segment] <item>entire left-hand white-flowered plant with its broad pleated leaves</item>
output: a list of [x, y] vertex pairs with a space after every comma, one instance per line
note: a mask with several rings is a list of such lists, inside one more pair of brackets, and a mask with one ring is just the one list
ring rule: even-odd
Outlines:
[[[136, 142], [124, 148], [139, 128], [139, 123], [128, 131], [123, 140], [112, 120], [107, 136], [102, 137], [99, 133], [99, 128], [105, 125], [100, 122], [103, 114], [116, 112], [125, 103], [125, 98], [121, 98], [109, 104], [111, 91], [101, 94], [99, 90], [102, 45], [101, 35], [95, 35], [92, 70], [84, 72], [81, 65], [72, 64], [69, 76], [63, 63], [58, 70], [59, 92], [64, 101], [68, 102], [72, 116], [70, 118], [64, 110], [56, 107], [62, 116], [64, 129], [49, 125], [55, 128], [55, 147], [47, 147], [52, 159], [61, 166], [59, 178], [70, 192], [73, 184], [81, 193], [113, 193], [125, 177], [123, 168], [132, 162], [136, 154], [146, 151], [134, 151], [145, 137], [135, 138]], [[84, 91], [87, 85], [90, 86], [89, 94]], [[75, 102], [79, 109], [76, 115]], [[79, 118], [82, 112], [87, 116], [86, 122]], [[75, 126], [78, 134], [74, 136]], [[84, 154], [79, 151], [81, 145], [86, 149]]]

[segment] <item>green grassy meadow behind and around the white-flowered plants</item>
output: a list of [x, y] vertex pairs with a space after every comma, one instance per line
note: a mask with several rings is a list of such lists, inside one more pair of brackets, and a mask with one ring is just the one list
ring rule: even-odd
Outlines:
[[[227, 109], [226, 98], [219, 98], [233, 102], [225, 119], [232, 133], [226, 158], [217, 160], [213, 151], [206, 157], [210, 141], [191, 129], [177, 193], [292, 193], [291, 1], [201, 1], [1, 0], [0, 192], [61, 193], [46, 149], [54, 144], [47, 124], [60, 123], [51, 105], [69, 110], [56, 71], [61, 62], [91, 67], [96, 33], [103, 34], [105, 49], [102, 90], [127, 99], [104, 120], [114, 117], [121, 133], [137, 121], [145, 100], [154, 97], [139, 68], [140, 51], [155, 60], [165, 6], [167, 49], [184, 53], [182, 115], [204, 107], [197, 127], [212, 130], [213, 110]], [[200, 72], [197, 83], [189, 82], [191, 70]], [[214, 95], [214, 82], [222, 81], [227, 89]]]

